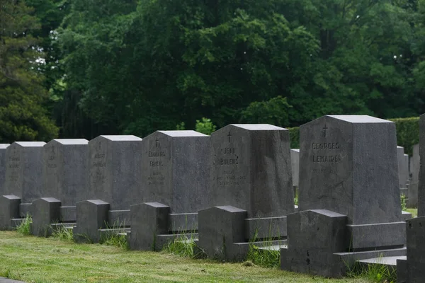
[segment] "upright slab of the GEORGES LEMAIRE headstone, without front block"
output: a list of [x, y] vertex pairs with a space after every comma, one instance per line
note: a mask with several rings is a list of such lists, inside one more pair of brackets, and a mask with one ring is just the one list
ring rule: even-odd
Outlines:
[[402, 221], [394, 122], [326, 115], [302, 125], [300, 141], [300, 211], [327, 209], [353, 225]]

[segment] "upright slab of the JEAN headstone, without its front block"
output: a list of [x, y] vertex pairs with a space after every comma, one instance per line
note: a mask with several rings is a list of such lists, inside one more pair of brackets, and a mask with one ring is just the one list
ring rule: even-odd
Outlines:
[[288, 129], [227, 125], [211, 142], [215, 205], [244, 209], [250, 218], [294, 212]]

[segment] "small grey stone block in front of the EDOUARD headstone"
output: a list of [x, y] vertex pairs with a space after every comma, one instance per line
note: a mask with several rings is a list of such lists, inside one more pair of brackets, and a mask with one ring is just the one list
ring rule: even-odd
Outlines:
[[170, 207], [159, 202], [145, 202], [130, 207], [132, 250], [155, 250], [157, 235], [169, 233]]

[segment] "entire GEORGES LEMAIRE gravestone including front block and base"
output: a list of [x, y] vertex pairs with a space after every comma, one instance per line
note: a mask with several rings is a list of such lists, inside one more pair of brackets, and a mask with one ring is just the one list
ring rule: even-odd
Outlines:
[[[353, 261], [405, 255], [394, 122], [325, 115], [302, 125], [299, 187], [282, 269], [339, 277]], [[316, 230], [331, 238], [312, 246], [305, 235]]]

